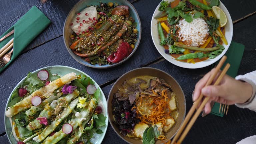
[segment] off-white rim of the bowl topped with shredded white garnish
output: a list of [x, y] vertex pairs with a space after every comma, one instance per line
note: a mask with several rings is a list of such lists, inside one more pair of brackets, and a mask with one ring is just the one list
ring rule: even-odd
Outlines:
[[[168, 0], [168, 1], [173, 1], [173, 0]], [[161, 2], [160, 2], [161, 3]], [[229, 13], [229, 11], [228, 11], [228, 9], [226, 8], [226, 6], [220, 1], [220, 5], [222, 5], [223, 7], [224, 7], [224, 9], [225, 10], [227, 10], [227, 13], [225, 13], [225, 15], [226, 15], [226, 17], [227, 17], [227, 21], [230, 23], [229, 24], [229, 27], [230, 27], [230, 42], [228, 43], [228, 45], [227, 45], [227, 48], [225, 48], [225, 49], [227, 49], [225, 52], [222, 52], [220, 55], [218, 55], [216, 58], [214, 58], [214, 59], [211, 59], [208, 63], [205, 63], [205, 64], [199, 64], [199, 62], [198, 62], [198, 64], [196, 63], [196, 64], [194, 64], [192, 67], [190, 67], [190, 66], [188, 66], [188, 65], [182, 65], [182, 64], [180, 64], [180, 63], [177, 63], [176, 61], [171, 61], [170, 60], [170, 57], [172, 58], [172, 56], [170, 56], [169, 54], [168, 55], [165, 55], [165, 54], [162, 54], [162, 52], [160, 52], [160, 49], [159, 49], [159, 46], [157, 46], [158, 44], [156, 44], [156, 42], [155, 42], [155, 40], [154, 40], [154, 37], [153, 37], [153, 27], [152, 27], [152, 25], [153, 25], [153, 20], [154, 20], [154, 15], [155, 15], [155, 13], [157, 13], [157, 11], [158, 11], [158, 8], [159, 8], [159, 6], [160, 6], [160, 3], [157, 5], [157, 7], [156, 7], [156, 9], [155, 9], [155, 11], [154, 11], [154, 13], [153, 13], [153, 15], [152, 15], [152, 19], [151, 19], [151, 24], [150, 24], [150, 26], [151, 26], [151, 28], [150, 28], [150, 32], [151, 32], [151, 38], [152, 38], [152, 41], [153, 41], [153, 43], [154, 43], [154, 45], [155, 45], [155, 48], [157, 49], [157, 51], [160, 53], [160, 55], [162, 56], [162, 57], [164, 57], [164, 59], [166, 59], [167, 61], [169, 61], [170, 63], [172, 63], [172, 64], [174, 64], [174, 65], [176, 65], [176, 66], [179, 66], [179, 67], [182, 67], [182, 68], [188, 68], [188, 69], [197, 69], [197, 68], [203, 68], [203, 67], [207, 67], [207, 66], [209, 66], [209, 65], [211, 65], [211, 64], [213, 64], [213, 63], [215, 63], [216, 61], [218, 61], [218, 60], [220, 60], [221, 59], [221, 57], [222, 56], [224, 56], [225, 55], [225, 53], [228, 51], [228, 49], [229, 49], [229, 46], [230, 46], [230, 44], [231, 44], [231, 42], [232, 42], [232, 38], [233, 38], [233, 23], [232, 23], [232, 18], [231, 18], [231, 16], [230, 16], [230, 13]], [[182, 62], [182, 63], [185, 63], [185, 62]], [[187, 64], [187, 63], [186, 63]]]

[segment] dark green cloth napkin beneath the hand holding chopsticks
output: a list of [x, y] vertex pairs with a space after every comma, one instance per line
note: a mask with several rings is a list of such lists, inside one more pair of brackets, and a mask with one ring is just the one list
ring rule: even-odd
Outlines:
[[[223, 67], [221, 69], [224, 68], [226, 63], [229, 63], [230, 68], [228, 69], [227, 74], [229, 76], [235, 78], [237, 76], [238, 68], [240, 66], [240, 63], [241, 63], [241, 60], [243, 57], [243, 53], [244, 53], [244, 45], [232, 41], [228, 48], [228, 51], [225, 54], [227, 56], [227, 60], [223, 64]], [[213, 67], [215, 67], [215, 65], [217, 65], [218, 63], [219, 63], [219, 61], [214, 63]], [[215, 103], [212, 107], [211, 114], [223, 117], [224, 114], [219, 113], [219, 109], [220, 109], [220, 104]]]

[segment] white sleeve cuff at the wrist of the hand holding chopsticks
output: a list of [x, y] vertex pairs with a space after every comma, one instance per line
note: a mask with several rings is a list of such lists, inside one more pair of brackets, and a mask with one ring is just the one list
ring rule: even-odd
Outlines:
[[243, 104], [235, 104], [240, 108], [249, 108], [250, 110], [256, 111], [256, 71], [247, 73], [245, 75], [239, 75], [236, 80], [243, 80], [249, 83], [253, 87], [253, 93], [251, 98]]

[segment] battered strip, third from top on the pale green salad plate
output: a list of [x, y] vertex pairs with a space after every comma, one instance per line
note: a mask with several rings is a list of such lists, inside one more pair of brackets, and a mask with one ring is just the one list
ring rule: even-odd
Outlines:
[[[46, 104], [44, 110], [39, 114], [38, 117], [46, 117], [46, 119], [51, 118], [52, 115], [57, 115], [61, 108], [66, 107], [71, 99], [75, 99], [79, 95], [79, 91], [75, 89], [72, 94], [68, 94], [65, 97], [58, 98], [54, 100], [50, 106]], [[43, 125], [40, 124], [40, 120], [35, 119], [27, 125], [27, 129], [32, 131], [41, 128]]]

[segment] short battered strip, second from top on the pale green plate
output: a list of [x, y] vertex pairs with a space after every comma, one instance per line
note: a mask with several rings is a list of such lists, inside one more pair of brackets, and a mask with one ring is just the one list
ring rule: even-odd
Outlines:
[[48, 103], [51, 103], [53, 100], [58, 99], [63, 93], [58, 93], [56, 96], [53, 94], [49, 98], [45, 99], [40, 105], [38, 106], [32, 106], [29, 110], [26, 111], [26, 115], [33, 115], [38, 111], [41, 111], [44, 109], [44, 106]]

